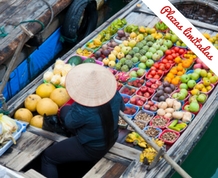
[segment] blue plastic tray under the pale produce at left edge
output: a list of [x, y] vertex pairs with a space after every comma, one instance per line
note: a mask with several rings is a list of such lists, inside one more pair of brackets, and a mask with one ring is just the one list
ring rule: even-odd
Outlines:
[[[21, 123], [20, 121], [16, 121], [18, 129], [16, 132], [13, 133], [13, 137], [15, 140], [20, 138], [22, 132], [26, 130], [26, 124]], [[2, 156], [14, 143], [12, 140], [8, 141], [1, 149], [0, 149], [0, 156]]]

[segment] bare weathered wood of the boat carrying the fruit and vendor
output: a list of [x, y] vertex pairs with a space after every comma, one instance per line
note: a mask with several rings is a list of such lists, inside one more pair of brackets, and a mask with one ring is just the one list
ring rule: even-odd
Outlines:
[[[198, 3], [199, 6], [206, 5], [207, 7], [209, 6], [213, 10], [217, 11], [217, 6], [212, 2], [207, 4], [196, 0], [187, 0], [182, 2], [182, 4], [179, 0], [171, 2], [177, 5], [179, 10], [180, 5], [187, 5], [191, 7], [191, 5], [194, 4], [194, 6], [196, 6], [196, 3]], [[139, 4], [141, 4], [141, 6], [139, 6]], [[108, 21], [98, 27], [89, 36], [74, 46], [68, 53], [63, 55], [61, 59], [65, 60], [67, 57], [71, 56], [78, 48], [95, 37], [116, 18], [125, 18], [130, 24], [148, 27], [153, 27], [159, 21], [159, 18], [153, 14], [147, 6], [142, 3], [142, 1], [133, 0], [117, 14], [112, 16]], [[189, 20], [202, 33], [207, 32], [210, 35], [215, 35], [217, 33], [216, 24], [208, 24], [195, 19]], [[17, 108], [23, 106], [24, 99], [29, 94], [35, 92], [37, 86], [43, 82], [42, 78], [43, 74], [38, 76], [32, 83], [20, 91], [19, 94], [7, 102], [9, 112], [12, 115]], [[189, 124], [179, 139], [167, 150], [167, 155], [169, 155], [178, 164], [181, 164], [188, 154], [190, 154], [193, 147], [197, 144], [199, 139], [207, 130], [210, 122], [213, 120], [218, 105], [217, 92], [218, 88], [215, 87], [200, 112], [195, 116], [194, 120]], [[139, 161], [141, 150], [124, 144], [123, 140], [125, 139], [125, 136], [124, 132], [120, 132], [117, 143], [115, 143], [112, 149], [89, 172], [87, 172], [84, 177], [153, 178], [169, 177], [173, 173], [174, 170], [165, 159], [161, 159], [154, 168], [148, 170], [148, 167]], [[18, 140], [17, 145], [13, 145], [11, 147], [12, 152], [6, 152], [1, 157], [0, 164], [24, 175], [25, 173], [22, 172], [22, 168], [35, 159], [36, 156], [38, 156], [47, 146], [51, 145], [53, 142], [59, 142], [63, 139], [65, 139], [65, 137], [61, 135], [28, 126], [27, 131], [24, 132]], [[37, 140], [37, 142], [35, 140]]]

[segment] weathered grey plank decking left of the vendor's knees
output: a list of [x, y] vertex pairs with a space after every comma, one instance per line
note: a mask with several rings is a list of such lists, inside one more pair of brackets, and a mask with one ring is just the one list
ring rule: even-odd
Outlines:
[[12, 170], [20, 171], [52, 143], [53, 141], [41, 136], [24, 132], [17, 144], [11, 147], [14, 153], [3, 154], [0, 164]]

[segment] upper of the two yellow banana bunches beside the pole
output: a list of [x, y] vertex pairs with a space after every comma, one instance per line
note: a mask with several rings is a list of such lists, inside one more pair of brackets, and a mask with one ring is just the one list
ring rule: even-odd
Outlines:
[[136, 132], [131, 132], [126, 137], [126, 142], [133, 143], [134, 145], [139, 145], [142, 148], [147, 147], [145, 140]]

